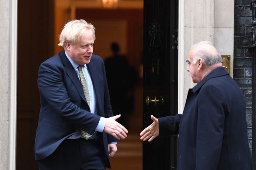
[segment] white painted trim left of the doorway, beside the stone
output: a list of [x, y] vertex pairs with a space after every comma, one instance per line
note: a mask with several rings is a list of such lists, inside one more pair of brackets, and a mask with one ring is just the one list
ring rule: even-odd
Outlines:
[[10, 0], [9, 170], [16, 169], [17, 14], [17, 0]]

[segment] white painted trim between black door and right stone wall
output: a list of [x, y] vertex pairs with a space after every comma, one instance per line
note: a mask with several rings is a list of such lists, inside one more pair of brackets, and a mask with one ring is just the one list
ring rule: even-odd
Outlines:
[[179, 0], [178, 32], [178, 113], [184, 108], [184, 0]]

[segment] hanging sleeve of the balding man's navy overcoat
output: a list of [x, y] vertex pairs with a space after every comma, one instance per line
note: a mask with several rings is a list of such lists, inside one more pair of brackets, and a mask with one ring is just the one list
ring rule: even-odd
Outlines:
[[214, 85], [202, 87], [198, 94], [196, 169], [216, 170], [224, 134], [226, 99]]

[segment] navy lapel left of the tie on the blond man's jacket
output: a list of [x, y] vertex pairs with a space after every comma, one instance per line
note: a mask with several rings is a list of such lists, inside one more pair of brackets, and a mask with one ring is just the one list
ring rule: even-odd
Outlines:
[[76, 71], [74, 70], [74, 67], [72, 66], [72, 64], [68, 60], [67, 56], [65, 55], [64, 51], [61, 52], [60, 57], [62, 59], [63, 65], [66, 69], [66, 72], [67, 72], [68, 76], [70, 77], [71, 81], [74, 83], [74, 85], [75, 85], [78, 93], [82, 97], [82, 99], [87, 103], [86, 98], [84, 96], [84, 91], [82, 89], [82, 85], [80, 83], [80, 80], [79, 80], [79, 78], [76, 74]]

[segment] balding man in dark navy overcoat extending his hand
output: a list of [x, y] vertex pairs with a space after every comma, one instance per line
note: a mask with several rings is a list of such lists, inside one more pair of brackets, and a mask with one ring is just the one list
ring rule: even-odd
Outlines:
[[222, 57], [209, 42], [200, 42], [186, 61], [197, 85], [188, 91], [183, 114], [152, 115], [140, 139], [178, 134], [177, 170], [252, 170], [244, 96]]

